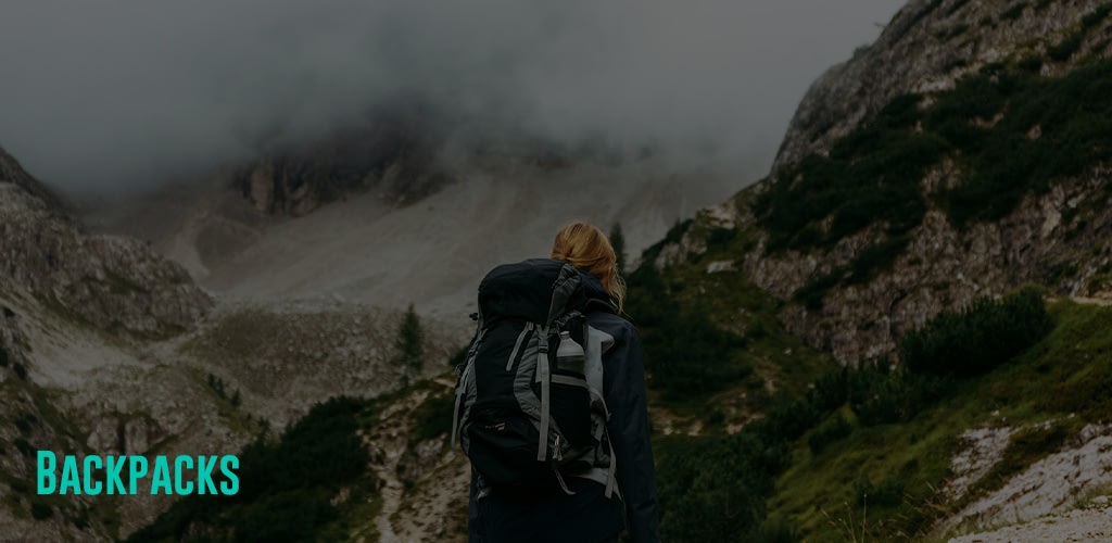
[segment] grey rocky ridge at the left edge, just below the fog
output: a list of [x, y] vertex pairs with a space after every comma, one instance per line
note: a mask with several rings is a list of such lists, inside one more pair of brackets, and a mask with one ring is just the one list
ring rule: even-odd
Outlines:
[[2, 151], [0, 174], [0, 274], [53, 309], [125, 336], [167, 336], [211, 306], [180, 265], [146, 244], [82, 233]]

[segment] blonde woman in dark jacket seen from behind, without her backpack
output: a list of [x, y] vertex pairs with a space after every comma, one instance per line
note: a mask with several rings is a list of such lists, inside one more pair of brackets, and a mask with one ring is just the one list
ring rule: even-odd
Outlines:
[[[616, 460], [617, 493], [588, 478], [566, 477], [569, 493], [535, 500], [487, 491], [473, 470], [468, 531], [471, 541], [616, 541], [628, 527], [634, 542], [658, 541], [658, 514], [648, 433], [645, 375], [637, 330], [618, 316], [625, 284], [606, 236], [585, 223], [556, 234], [552, 259], [575, 266], [588, 302], [587, 324], [612, 336], [603, 354], [603, 391], [610, 416], [608, 444]], [[483, 488], [480, 488], [483, 487]], [[607, 497], [609, 495], [609, 497]], [[620, 497], [619, 497], [620, 496]], [[624, 509], [624, 513], [623, 513]]]

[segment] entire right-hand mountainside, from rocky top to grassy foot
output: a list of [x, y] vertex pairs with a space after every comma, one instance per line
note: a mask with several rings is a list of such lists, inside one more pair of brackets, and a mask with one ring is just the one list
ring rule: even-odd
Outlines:
[[[631, 299], [679, 315], [643, 319], [657, 405], [714, 406], [655, 443], [673, 539], [1112, 534], [1110, 14], [909, 2], [815, 81], [766, 178], [646, 251]], [[776, 357], [777, 326], [805, 346]], [[753, 376], [792, 392], [732, 399]]]

